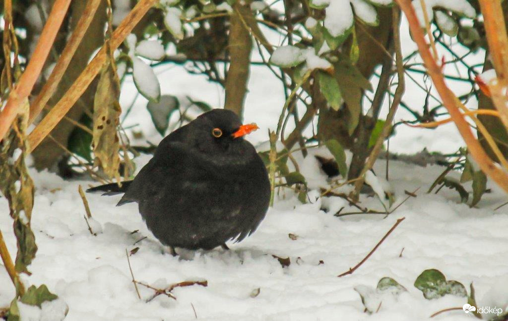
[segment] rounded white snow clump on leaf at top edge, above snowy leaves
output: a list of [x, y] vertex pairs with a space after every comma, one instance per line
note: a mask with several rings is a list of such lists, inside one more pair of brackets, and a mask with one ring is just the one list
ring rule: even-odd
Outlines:
[[331, 0], [326, 8], [324, 26], [332, 37], [338, 37], [353, 25], [350, 0]]

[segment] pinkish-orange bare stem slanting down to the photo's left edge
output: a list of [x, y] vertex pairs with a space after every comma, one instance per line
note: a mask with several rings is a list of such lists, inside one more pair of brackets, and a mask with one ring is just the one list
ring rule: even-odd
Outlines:
[[12, 122], [16, 119], [20, 106], [34, 88], [70, 4], [71, 0], [55, 0], [34, 53], [21, 75], [19, 83], [10, 93], [4, 110], [0, 113], [0, 139], [4, 138]]

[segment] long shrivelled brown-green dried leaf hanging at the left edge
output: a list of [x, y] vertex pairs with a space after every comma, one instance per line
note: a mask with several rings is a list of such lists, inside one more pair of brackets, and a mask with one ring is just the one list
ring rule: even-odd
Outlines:
[[28, 120], [28, 100], [13, 123], [9, 134], [0, 141], [0, 190], [9, 202], [14, 220], [18, 253], [16, 271], [30, 274], [27, 265], [37, 252], [34, 232], [30, 228], [31, 210], [34, 206], [34, 183], [28, 175], [25, 155], [25, 130]]

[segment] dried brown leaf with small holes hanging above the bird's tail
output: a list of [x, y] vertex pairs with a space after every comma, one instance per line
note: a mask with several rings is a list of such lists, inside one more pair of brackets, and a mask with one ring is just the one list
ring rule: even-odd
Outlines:
[[96, 165], [100, 165], [106, 175], [119, 180], [120, 150], [117, 126], [120, 117], [120, 83], [114, 59], [111, 56], [101, 70], [97, 92], [93, 99], [92, 147]]

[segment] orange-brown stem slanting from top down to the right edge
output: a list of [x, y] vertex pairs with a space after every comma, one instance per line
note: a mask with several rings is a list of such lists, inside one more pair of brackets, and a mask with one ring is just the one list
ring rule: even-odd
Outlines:
[[[489, 158], [485, 153], [478, 139], [474, 137], [469, 124], [464, 119], [464, 116], [459, 111], [457, 105], [457, 97], [447, 87], [444, 82], [441, 68], [437, 65], [436, 61], [432, 58], [429, 51], [428, 45], [425, 41], [423, 31], [420, 28], [418, 18], [415, 13], [415, 9], [412, 7], [409, 0], [396, 0], [402, 11], [407, 17], [409, 23], [409, 29], [412, 37], [418, 46], [420, 55], [425, 63], [427, 72], [434, 83], [434, 86], [439, 93], [443, 101], [443, 105], [448, 110], [450, 116], [454, 119], [454, 122], [462, 135], [462, 138], [466, 142], [469, 152], [473, 156], [474, 160], [480, 165], [480, 168], [497, 183], [505, 192], [508, 192], [508, 175]], [[460, 101], [459, 101], [460, 102]]]

